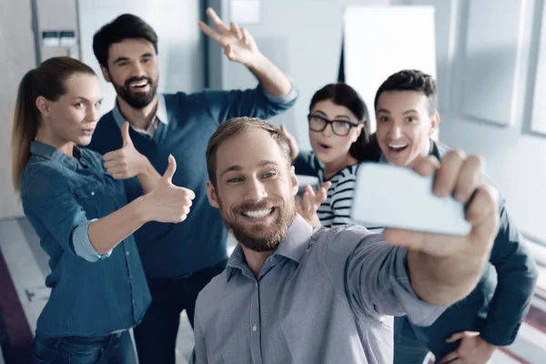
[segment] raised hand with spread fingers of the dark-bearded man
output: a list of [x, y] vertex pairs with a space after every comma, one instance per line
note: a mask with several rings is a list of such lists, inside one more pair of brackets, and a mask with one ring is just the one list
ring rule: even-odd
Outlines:
[[204, 22], [199, 22], [199, 27], [203, 33], [214, 39], [224, 49], [224, 54], [230, 61], [249, 66], [253, 64], [258, 56], [261, 56], [256, 42], [247, 29], [239, 28], [233, 22], [231, 22], [228, 29], [210, 7], [207, 8], [207, 15], [217, 27], [219, 33]]

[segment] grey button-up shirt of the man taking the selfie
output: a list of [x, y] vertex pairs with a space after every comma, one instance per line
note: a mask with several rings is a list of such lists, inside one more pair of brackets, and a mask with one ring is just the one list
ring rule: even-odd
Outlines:
[[410, 286], [407, 249], [363, 227], [297, 216], [256, 278], [236, 248], [197, 298], [194, 364], [392, 362], [392, 316], [430, 325], [445, 310]]

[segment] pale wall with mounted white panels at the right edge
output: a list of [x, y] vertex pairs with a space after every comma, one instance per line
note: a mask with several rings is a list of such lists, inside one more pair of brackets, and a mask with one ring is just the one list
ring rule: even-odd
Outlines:
[[546, 136], [531, 133], [543, 1], [401, 3], [436, 6], [440, 140], [485, 157], [521, 231], [546, 242]]

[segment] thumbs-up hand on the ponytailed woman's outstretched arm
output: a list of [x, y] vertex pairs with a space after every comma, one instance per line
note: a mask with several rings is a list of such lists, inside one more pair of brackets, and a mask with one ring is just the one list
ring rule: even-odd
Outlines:
[[168, 167], [156, 187], [145, 200], [149, 220], [159, 222], [182, 222], [186, 219], [192, 200], [196, 197], [191, 189], [173, 185], [172, 178], [177, 171], [175, 157], [168, 157]]

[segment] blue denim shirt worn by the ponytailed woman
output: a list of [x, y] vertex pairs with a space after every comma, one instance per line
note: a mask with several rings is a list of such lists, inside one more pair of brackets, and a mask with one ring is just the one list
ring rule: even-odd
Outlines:
[[49, 255], [45, 286], [52, 288], [36, 333], [102, 336], [135, 327], [151, 300], [135, 239], [99, 255], [87, 236], [92, 220], [126, 205], [124, 184], [91, 150], [75, 147], [76, 159], [33, 141], [30, 151], [21, 199]]

